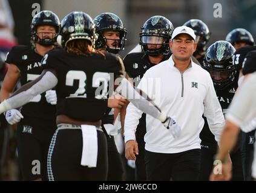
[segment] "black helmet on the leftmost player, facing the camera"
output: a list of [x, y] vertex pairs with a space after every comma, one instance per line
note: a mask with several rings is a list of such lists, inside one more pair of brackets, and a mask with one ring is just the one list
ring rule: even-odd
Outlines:
[[[52, 25], [56, 28], [56, 33], [54, 34], [54, 37], [52, 39], [44, 38], [39, 39], [38, 33], [36, 32], [36, 29], [39, 25]], [[53, 11], [40, 11], [38, 14], [36, 14], [31, 22], [31, 43], [39, 43], [41, 45], [53, 45], [56, 43], [57, 35], [59, 34], [59, 17]]]

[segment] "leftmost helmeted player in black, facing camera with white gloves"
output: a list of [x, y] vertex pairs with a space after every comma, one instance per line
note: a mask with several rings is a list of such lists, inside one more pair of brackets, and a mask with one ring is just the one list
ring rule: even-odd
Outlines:
[[[26, 84], [42, 72], [41, 60], [54, 48], [59, 33], [59, 18], [52, 11], [41, 11], [31, 22], [32, 46], [14, 46], [8, 52], [6, 62], [10, 65], [1, 87], [1, 101], [8, 98], [19, 79]], [[18, 122], [18, 156], [23, 180], [47, 180], [47, 153], [51, 137], [56, 129], [55, 91], [36, 95], [19, 109], [5, 113], [9, 124]], [[48, 100], [48, 101], [47, 101]], [[39, 168], [38, 172], [33, 167]]]

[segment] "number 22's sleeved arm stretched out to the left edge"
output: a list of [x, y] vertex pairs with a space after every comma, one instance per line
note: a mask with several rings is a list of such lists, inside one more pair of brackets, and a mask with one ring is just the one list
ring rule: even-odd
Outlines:
[[42, 74], [18, 90], [0, 104], [0, 114], [27, 104], [34, 96], [41, 94], [57, 85], [57, 75], [54, 69], [47, 69]]

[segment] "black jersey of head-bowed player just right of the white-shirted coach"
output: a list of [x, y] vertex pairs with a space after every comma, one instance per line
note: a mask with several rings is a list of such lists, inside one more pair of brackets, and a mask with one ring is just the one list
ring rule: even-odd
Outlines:
[[[234, 81], [231, 86], [229, 86], [227, 89], [224, 90], [216, 90], [216, 95], [218, 97], [218, 101], [220, 102], [220, 106], [222, 106], [222, 111], [226, 113], [226, 110], [228, 110], [229, 104], [232, 101], [232, 98], [235, 94], [235, 90], [237, 90], [237, 81]], [[203, 145], [211, 145], [211, 144], [217, 144], [217, 142], [214, 139], [214, 134], [211, 133], [211, 130], [209, 129], [208, 122], [205, 117], [205, 125], [203, 126], [203, 130], [200, 133], [200, 139], [202, 140]]]

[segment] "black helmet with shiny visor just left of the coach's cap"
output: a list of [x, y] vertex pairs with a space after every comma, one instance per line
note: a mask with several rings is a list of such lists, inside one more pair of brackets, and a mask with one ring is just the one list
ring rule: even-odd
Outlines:
[[[172, 23], [163, 16], [150, 17], [140, 28], [140, 45], [147, 55], [168, 54], [169, 40], [174, 30]], [[161, 45], [160, 48], [148, 48], [148, 45]]]

